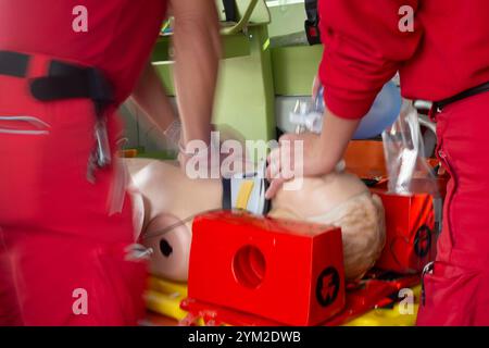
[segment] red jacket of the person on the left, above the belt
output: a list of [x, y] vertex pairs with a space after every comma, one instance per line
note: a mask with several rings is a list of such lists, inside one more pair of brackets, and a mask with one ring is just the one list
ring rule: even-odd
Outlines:
[[[101, 69], [121, 102], [133, 91], [149, 59], [166, 2], [0, 0], [0, 50], [42, 53]], [[78, 5], [87, 10], [87, 32], [73, 29]]]

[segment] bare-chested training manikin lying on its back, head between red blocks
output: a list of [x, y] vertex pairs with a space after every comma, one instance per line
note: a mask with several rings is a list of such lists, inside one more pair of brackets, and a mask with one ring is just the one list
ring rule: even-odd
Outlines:
[[[175, 162], [124, 161], [131, 178], [137, 233], [152, 251], [151, 273], [187, 281], [192, 219], [223, 209], [222, 181], [190, 179]], [[303, 178], [300, 189], [281, 189], [271, 206], [271, 217], [341, 227], [349, 281], [361, 278], [384, 248], [385, 216], [379, 197], [344, 171]]]

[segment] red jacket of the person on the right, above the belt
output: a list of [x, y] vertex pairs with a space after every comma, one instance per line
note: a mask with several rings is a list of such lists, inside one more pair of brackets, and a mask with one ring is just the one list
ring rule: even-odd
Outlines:
[[[413, 32], [399, 28], [404, 5]], [[410, 99], [437, 101], [489, 82], [487, 0], [319, 0], [318, 9], [319, 78], [338, 116], [365, 115], [398, 71]]]

